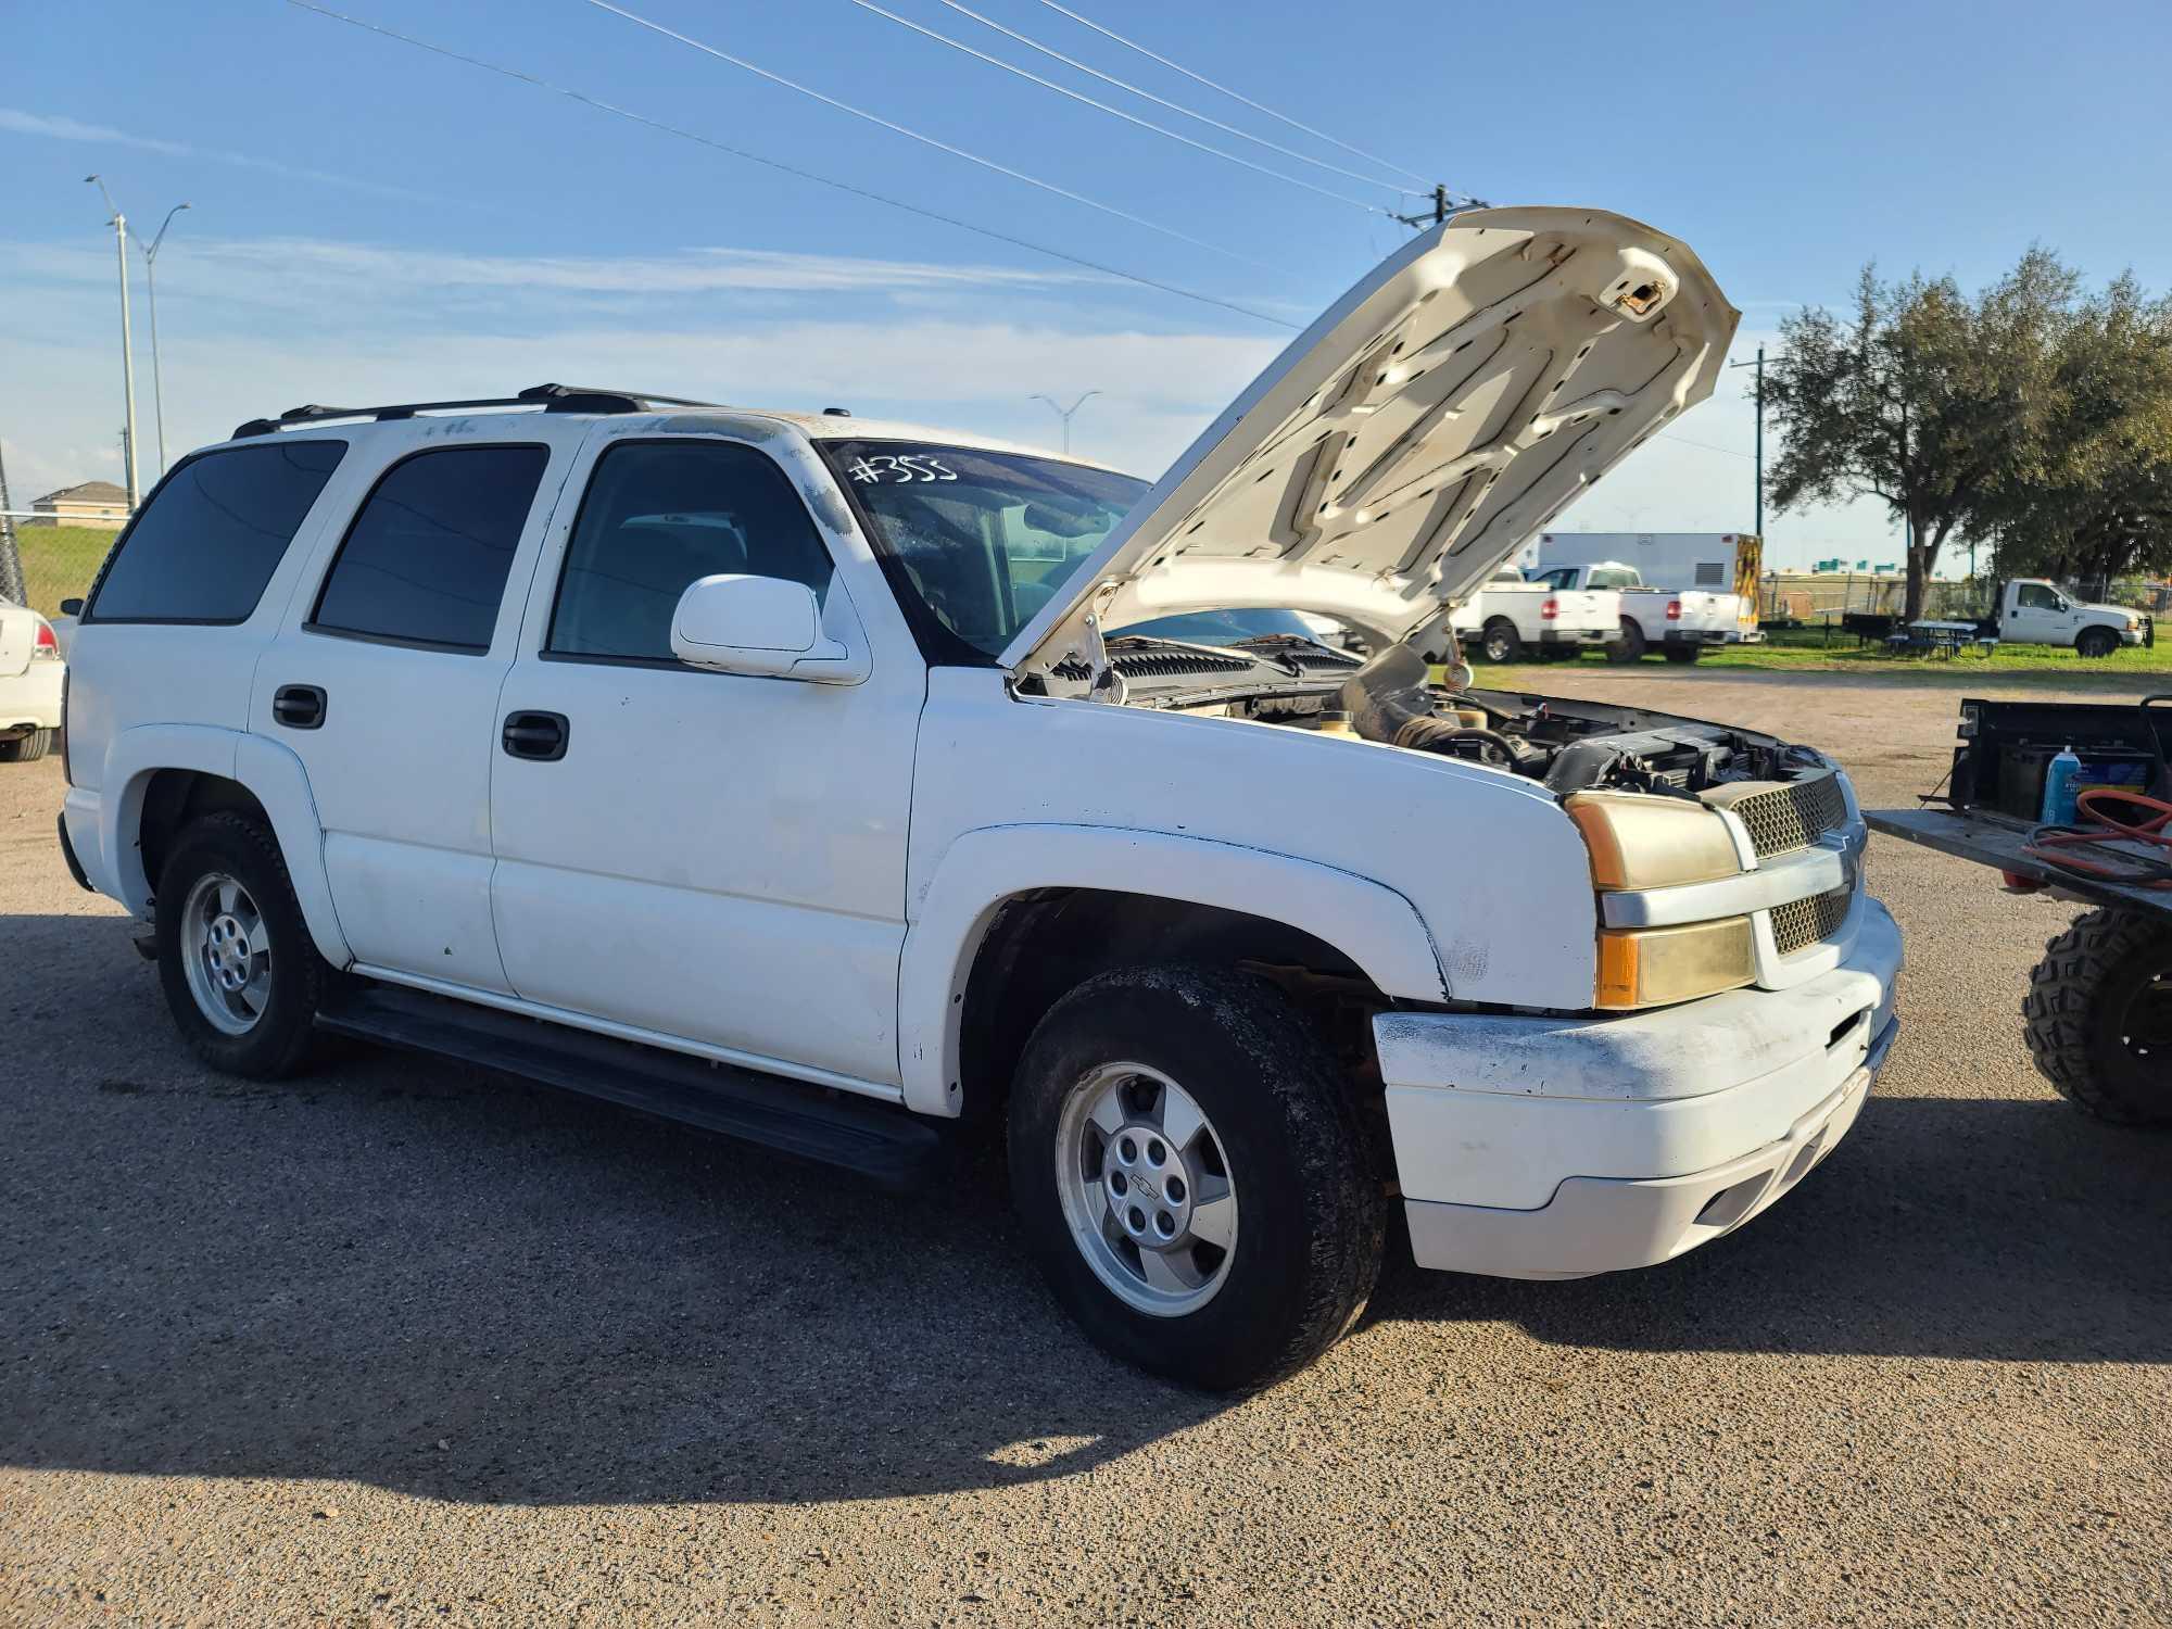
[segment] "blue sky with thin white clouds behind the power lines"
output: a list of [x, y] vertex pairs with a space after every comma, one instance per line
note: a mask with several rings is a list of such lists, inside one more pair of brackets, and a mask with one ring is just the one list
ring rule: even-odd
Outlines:
[[[337, 9], [647, 117], [1066, 254], [1303, 324], [1403, 228], [1123, 124], [851, 0], [623, 0], [938, 141], [880, 130], [586, 0]], [[1043, 0], [973, 11], [1186, 109], [1316, 141]], [[940, 0], [884, 9], [1375, 209], [1299, 163], [1036, 56]], [[2092, 280], [2172, 285], [2172, 9], [1169, 7], [1066, 0], [1399, 172], [1494, 202], [1594, 204], [1690, 241], [1742, 308], [1735, 354], [1857, 267], [1977, 285], [2029, 241]], [[167, 450], [295, 402], [545, 378], [762, 406], [847, 404], [1053, 443], [1034, 391], [1099, 389], [1075, 445], [1158, 473], [1288, 337], [1223, 306], [884, 209], [328, 22], [280, 0], [0, 0], [0, 441], [17, 500], [119, 469], [113, 239], [189, 200], [159, 263]], [[1394, 178], [1394, 176], [1390, 176]], [[1169, 228], [1169, 230], [1156, 230]], [[1197, 239], [1197, 241], [1184, 241]], [[152, 447], [141, 324], [139, 415]], [[1746, 374], [1566, 519], [1751, 521]], [[1690, 445], [1690, 443], [1701, 445]], [[146, 458], [146, 480], [154, 473]], [[1772, 554], [1894, 558], [1874, 506], [1768, 515]], [[1881, 552], [1883, 545], [1883, 552]]]

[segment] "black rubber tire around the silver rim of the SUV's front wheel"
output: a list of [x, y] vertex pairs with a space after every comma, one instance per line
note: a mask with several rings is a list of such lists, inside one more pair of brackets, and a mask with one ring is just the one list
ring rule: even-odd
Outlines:
[[[1112, 1064], [1160, 1071], [1197, 1101], [1240, 1208], [1221, 1288], [1177, 1316], [1103, 1281], [1088, 1249], [1112, 1223], [1073, 1223], [1058, 1192], [1071, 1158], [1064, 1106]], [[1273, 984], [1190, 962], [1101, 973], [1040, 1019], [1008, 1114], [1025, 1245], [1062, 1308], [1116, 1358], [1205, 1390], [1255, 1390], [1310, 1364], [1364, 1312], [1386, 1188], [1349, 1071]]]

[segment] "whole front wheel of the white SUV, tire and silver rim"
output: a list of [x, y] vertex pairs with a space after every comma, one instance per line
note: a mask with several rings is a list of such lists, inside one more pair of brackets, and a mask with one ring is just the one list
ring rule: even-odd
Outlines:
[[[1190, 1123], [1171, 1088], [1199, 1129], [1164, 1147], [1156, 1127]], [[1071, 990], [1010, 1095], [1012, 1203], [1064, 1312], [1116, 1358], [1216, 1392], [1297, 1373], [1364, 1312], [1388, 1212], [1366, 1149], [1349, 1073], [1314, 1027], [1275, 986], [1214, 967], [1127, 967]], [[1134, 1242], [1149, 1236], [1177, 1245]]]

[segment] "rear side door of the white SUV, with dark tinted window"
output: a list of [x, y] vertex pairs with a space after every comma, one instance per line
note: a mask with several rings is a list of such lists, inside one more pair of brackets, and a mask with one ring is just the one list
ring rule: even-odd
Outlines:
[[308, 771], [356, 962], [504, 995], [491, 923], [497, 691], [586, 424], [489, 426], [500, 439], [428, 419], [393, 445], [356, 437], [350, 465], [378, 456], [352, 469], [350, 502], [367, 491], [300, 578], [258, 662], [250, 728]]

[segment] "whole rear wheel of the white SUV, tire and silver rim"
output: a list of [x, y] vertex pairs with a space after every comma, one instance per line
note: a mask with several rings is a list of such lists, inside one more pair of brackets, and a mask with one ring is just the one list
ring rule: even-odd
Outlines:
[[[206, 815], [174, 843], [156, 899], [159, 984], [189, 1049], [228, 1075], [295, 1073], [332, 969], [272, 832], [230, 810]], [[222, 973], [243, 982], [228, 988]]]

